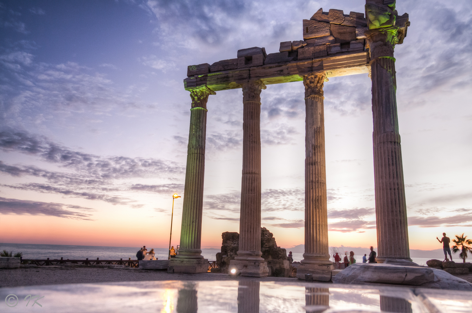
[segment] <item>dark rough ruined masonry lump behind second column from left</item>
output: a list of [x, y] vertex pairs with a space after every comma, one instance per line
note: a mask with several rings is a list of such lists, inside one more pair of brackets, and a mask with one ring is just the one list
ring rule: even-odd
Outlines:
[[[239, 234], [236, 232], [224, 232], [221, 252], [216, 254], [218, 268], [211, 269], [212, 273], [228, 273], [229, 262], [234, 260], [239, 250]], [[277, 246], [273, 234], [265, 227], [261, 228], [261, 252], [262, 258], [269, 267], [269, 276], [292, 277], [293, 268], [287, 260], [287, 251]]]

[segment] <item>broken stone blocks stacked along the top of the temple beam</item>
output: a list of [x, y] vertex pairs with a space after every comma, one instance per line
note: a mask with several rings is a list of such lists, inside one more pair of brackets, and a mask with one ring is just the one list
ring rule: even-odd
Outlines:
[[265, 48], [237, 51], [236, 59], [203, 63], [187, 68], [187, 76], [250, 68], [265, 64], [326, 57], [336, 53], [365, 50], [367, 21], [364, 13], [320, 8], [309, 20], [303, 20], [303, 40], [280, 42], [279, 52], [267, 54]]

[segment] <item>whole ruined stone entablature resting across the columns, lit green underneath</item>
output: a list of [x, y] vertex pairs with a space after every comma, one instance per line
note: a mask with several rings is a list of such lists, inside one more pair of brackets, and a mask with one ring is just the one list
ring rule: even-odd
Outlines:
[[[323, 12], [320, 8], [309, 20], [303, 20], [303, 40], [280, 42], [279, 52], [267, 54], [265, 48], [252, 47], [238, 50], [235, 59], [188, 66], [185, 89], [201, 85], [213, 91], [235, 89], [257, 79], [264, 85], [280, 84], [302, 81], [301, 76], [323, 71], [328, 78], [368, 73], [369, 31], [393, 31], [391, 36], [399, 44], [409, 25], [407, 13], [398, 16], [395, 10], [389, 15], [391, 6], [369, 2], [379, 1], [368, 1], [367, 19], [363, 13], [346, 15], [342, 10]], [[382, 7], [388, 13], [380, 12]], [[388, 16], [387, 21], [382, 15]]]

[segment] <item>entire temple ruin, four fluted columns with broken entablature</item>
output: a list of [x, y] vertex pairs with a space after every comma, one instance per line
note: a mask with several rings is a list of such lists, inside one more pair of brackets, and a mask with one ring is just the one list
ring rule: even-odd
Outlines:
[[305, 253], [297, 269], [304, 279], [330, 280], [328, 251], [323, 85], [330, 77], [369, 73], [372, 80], [373, 152], [377, 261], [409, 260], [405, 186], [396, 109], [394, 47], [410, 25], [395, 0], [366, 0], [364, 13], [320, 8], [303, 20], [303, 40], [281, 42], [277, 53], [264, 48], [237, 51], [237, 58], [188, 67], [190, 133], [185, 175], [180, 250], [174, 272], [206, 272], [201, 255], [203, 175], [208, 96], [243, 91], [243, 170], [239, 250], [231, 265], [245, 276], [268, 275], [261, 257], [261, 90], [266, 85], [303, 81], [305, 86]]

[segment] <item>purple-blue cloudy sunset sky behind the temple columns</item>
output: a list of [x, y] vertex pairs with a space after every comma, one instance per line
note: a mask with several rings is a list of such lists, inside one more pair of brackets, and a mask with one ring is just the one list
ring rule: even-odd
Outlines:
[[[165, 247], [183, 195], [188, 65], [301, 40], [319, 8], [363, 0], [0, 2], [0, 242]], [[410, 247], [472, 237], [472, 2], [397, 1]], [[325, 83], [329, 244], [376, 245], [371, 81]], [[261, 93], [262, 226], [303, 244], [303, 83]], [[242, 92], [208, 100], [202, 247], [239, 230]], [[175, 203], [178, 244], [182, 199]]]

